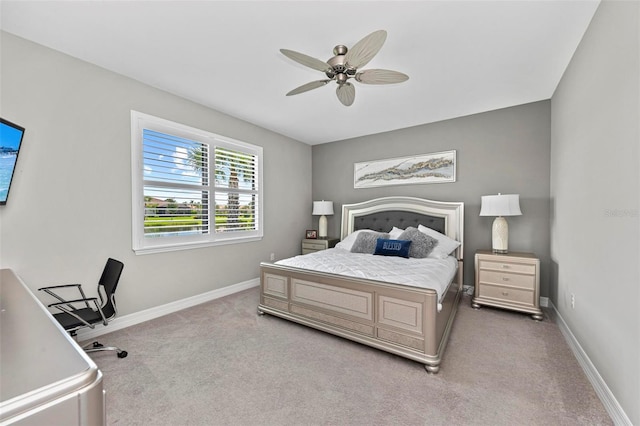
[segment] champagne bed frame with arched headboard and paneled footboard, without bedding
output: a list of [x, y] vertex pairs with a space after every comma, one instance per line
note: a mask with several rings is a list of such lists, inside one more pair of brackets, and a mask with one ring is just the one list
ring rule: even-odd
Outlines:
[[[462, 296], [464, 204], [384, 197], [342, 206], [342, 242], [353, 239], [356, 231], [389, 233], [394, 227], [428, 227], [459, 243], [446, 260], [454, 264], [449, 282], [434, 289], [301, 268], [289, 260], [263, 262], [258, 313], [420, 362], [427, 372], [437, 373]], [[332, 255], [332, 250], [345, 251], [324, 252]], [[316, 253], [296, 257], [307, 260], [312, 255]]]

